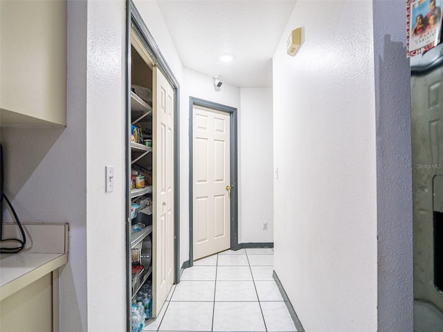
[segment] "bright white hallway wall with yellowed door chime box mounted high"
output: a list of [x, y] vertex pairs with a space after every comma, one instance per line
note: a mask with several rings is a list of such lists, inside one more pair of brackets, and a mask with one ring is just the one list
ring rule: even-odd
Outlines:
[[275, 272], [306, 331], [377, 331], [372, 42], [372, 1], [298, 1], [273, 57]]

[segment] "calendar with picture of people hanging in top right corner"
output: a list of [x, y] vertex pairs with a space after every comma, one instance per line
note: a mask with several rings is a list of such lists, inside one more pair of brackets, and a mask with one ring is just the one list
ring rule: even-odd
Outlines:
[[443, 0], [408, 0], [406, 47], [408, 57], [425, 53], [440, 44]]

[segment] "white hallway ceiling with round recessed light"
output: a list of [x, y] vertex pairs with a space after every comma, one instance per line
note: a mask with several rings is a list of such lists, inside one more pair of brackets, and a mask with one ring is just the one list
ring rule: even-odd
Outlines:
[[[157, 2], [183, 66], [239, 87], [272, 86], [272, 56], [296, 1]], [[221, 62], [222, 53], [235, 58]]]

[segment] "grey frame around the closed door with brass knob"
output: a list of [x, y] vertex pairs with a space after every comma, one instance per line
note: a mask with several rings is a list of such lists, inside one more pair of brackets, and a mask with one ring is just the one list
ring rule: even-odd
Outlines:
[[238, 250], [238, 174], [237, 174], [237, 109], [235, 107], [217, 104], [195, 97], [189, 98], [189, 266], [194, 265], [194, 186], [193, 186], [193, 151], [192, 142], [194, 140], [193, 116], [194, 107], [206, 107], [215, 111], [221, 111], [229, 114], [230, 126], [230, 249]]

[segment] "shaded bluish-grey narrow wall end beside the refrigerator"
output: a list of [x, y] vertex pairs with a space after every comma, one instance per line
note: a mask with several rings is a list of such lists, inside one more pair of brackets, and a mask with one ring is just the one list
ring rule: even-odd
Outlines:
[[404, 3], [374, 1], [378, 329], [413, 330], [410, 64]]

